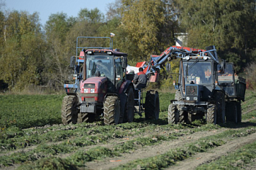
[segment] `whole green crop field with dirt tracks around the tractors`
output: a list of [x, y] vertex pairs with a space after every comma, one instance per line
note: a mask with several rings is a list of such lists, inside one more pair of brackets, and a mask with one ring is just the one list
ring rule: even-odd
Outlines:
[[256, 169], [256, 92], [242, 123], [168, 125], [173, 93], [159, 93], [159, 120], [61, 125], [64, 95], [0, 96], [0, 169]]

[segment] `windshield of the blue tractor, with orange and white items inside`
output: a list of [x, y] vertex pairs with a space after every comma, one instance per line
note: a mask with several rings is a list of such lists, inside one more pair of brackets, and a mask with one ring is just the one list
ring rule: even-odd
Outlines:
[[184, 62], [185, 84], [211, 84], [213, 83], [211, 74], [211, 62]]

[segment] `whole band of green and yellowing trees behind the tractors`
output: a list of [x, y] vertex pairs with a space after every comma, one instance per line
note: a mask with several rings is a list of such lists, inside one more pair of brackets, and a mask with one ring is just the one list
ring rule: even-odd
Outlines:
[[255, 0], [116, 0], [108, 4], [106, 15], [85, 7], [77, 17], [52, 14], [44, 26], [37, 12], [0, 11], [0, 88], [61, 89], [71, 80], [69, 59], [75, 55], [77, 36], [110, 32], [116, 34], [113, 47], [128, 53], [131, 65], [175, 45], [175, 34], [183, 32], [187, 47], [215, 45], [219, 57], [242, 74], [246, 64], [255, 62], [255, 23]]

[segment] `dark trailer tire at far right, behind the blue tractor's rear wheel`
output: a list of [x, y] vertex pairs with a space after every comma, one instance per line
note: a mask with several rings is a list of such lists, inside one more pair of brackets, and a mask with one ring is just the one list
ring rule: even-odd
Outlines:
[[236, 105], [236, 101], [230, 101], [227, 103], [227, 122], [238, 123], [238, 109]]

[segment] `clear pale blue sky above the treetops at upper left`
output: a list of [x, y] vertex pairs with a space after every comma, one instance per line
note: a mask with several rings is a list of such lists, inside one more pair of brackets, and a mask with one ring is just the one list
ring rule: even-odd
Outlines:
[[77, 17], [80, 9], [98, 8], [104, 15], [107, 13], [107, 4], [116, 0], [0, 0], [5, 4], [2, 10], [27, 11], [29, 14], [39, 12], [42, 26], [45, 25], [51, 14], [64, 12], [68, 17]]

